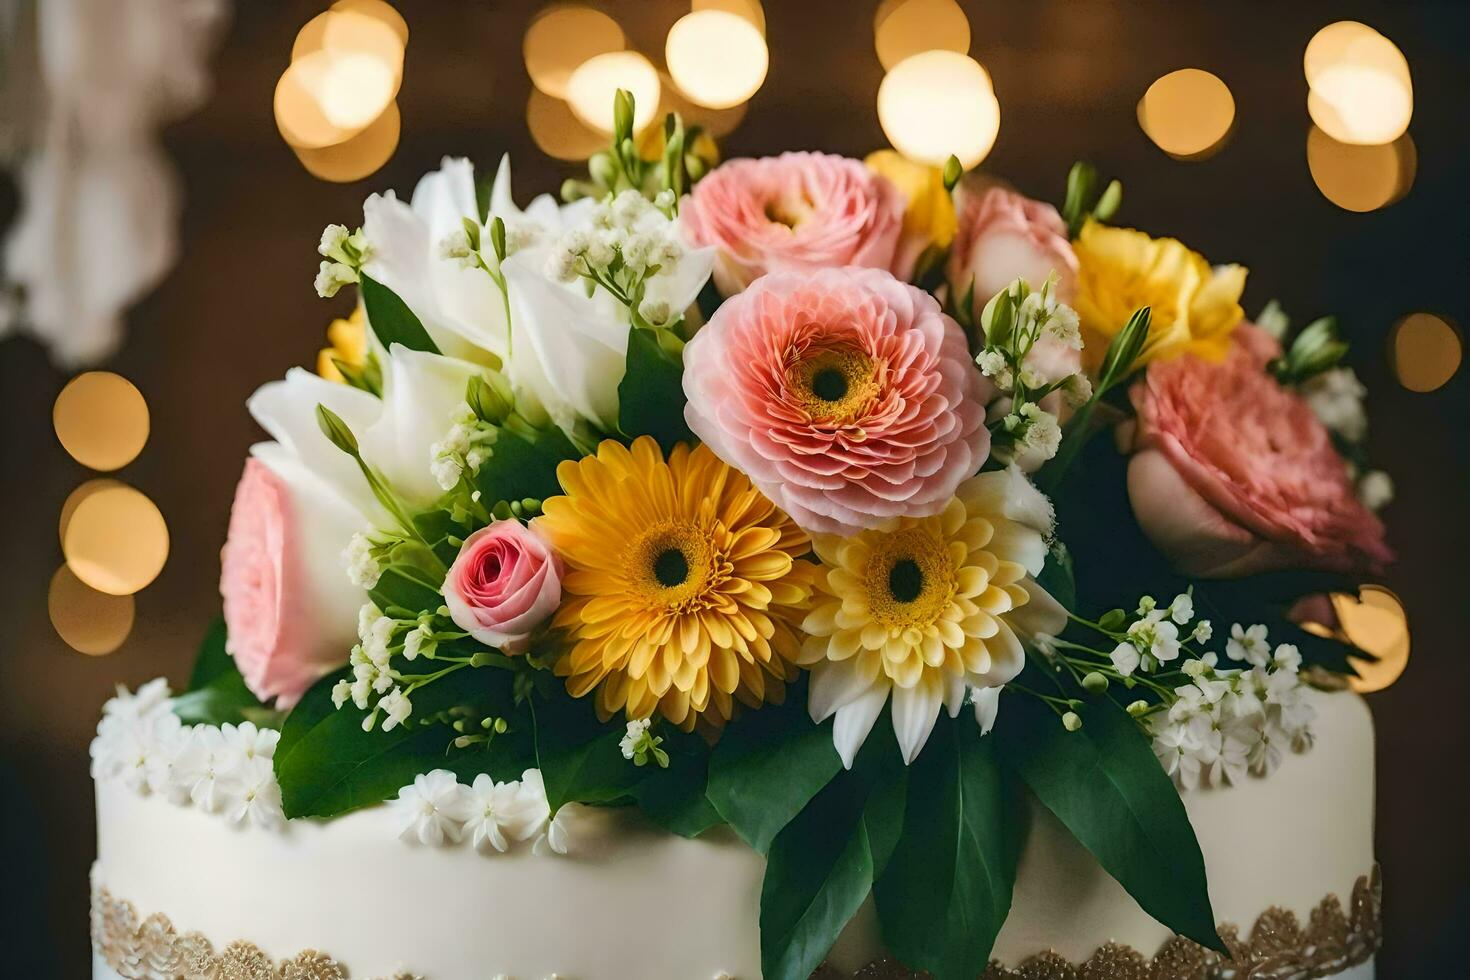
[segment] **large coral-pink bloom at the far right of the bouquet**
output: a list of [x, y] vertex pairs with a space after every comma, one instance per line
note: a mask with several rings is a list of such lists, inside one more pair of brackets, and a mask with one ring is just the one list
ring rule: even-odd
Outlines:
[[1150, 364], [1132, 389], [1133, 513], [1185, 574], [1364, 572], [1392, 560], [1311, 408], [1266, 373], [1257, 336], [1222, 363]]

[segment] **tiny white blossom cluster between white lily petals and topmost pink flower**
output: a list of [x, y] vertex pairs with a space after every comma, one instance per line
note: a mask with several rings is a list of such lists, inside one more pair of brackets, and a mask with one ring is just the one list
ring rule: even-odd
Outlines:
[[[573, 228], [556, 242], [547, 275], [562, 282], [588, 279], [609, 287], [625, 303], [632, 300], [644, 279], [672, 272], [684, 257], [672, 204], [669, 191], [650, 201], [631, 190], [598, 204], [589, 226]], [[650, 303], [639, 313], [659, 326], [673, 311], [664, 303]]]

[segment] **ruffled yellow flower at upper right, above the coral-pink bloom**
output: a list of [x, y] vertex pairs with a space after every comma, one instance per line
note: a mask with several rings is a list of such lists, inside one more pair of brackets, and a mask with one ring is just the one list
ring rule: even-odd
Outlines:
[[1139, 363], [1198, 354], [1220, 360], [1230, 332], [1245, 317], [1244, 266], [1211, 269], [1197, 251], [1173, 238], [1150, 238], [1130, 228], [1088, 222], [1073, 242], [1078, 253], [1076, 309], [1082, 319], [1082, 357], [1102, 363], [1108, 341], [1139, 307], [1151, 307], [1148, 345]]

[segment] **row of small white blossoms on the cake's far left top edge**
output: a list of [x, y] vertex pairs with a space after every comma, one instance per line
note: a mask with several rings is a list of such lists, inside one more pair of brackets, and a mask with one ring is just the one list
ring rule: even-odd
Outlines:
[[121, 779], [138, 793], [194, 804], [232, 823], [278, 827], [281, 788], [272, 768], [279, 732], [243, 724], [182, 724], [159, 677], [103, 705], [91, 743], [93, 779]]

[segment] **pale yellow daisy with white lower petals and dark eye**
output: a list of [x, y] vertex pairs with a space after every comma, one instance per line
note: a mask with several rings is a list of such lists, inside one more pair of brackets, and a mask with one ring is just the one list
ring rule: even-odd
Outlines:
[[[1016, 469], [963, 483], [933, 517], [889, 530], [813, 536], [825, 563], [801, 627], [813, 721], [836, 716], [832, 741], [853, 758], [894, 699], [906, 763], [945, 707], [998, 688], [1025, 666], [1020, 633], [1057, 633], [1066, 614], [1030, 577], [1047, 557], [1051, 505]], [[976, 702], [985, 724], [989, 704]], [[986, 726], [988, 727], [988, 726]]]

